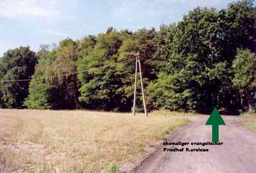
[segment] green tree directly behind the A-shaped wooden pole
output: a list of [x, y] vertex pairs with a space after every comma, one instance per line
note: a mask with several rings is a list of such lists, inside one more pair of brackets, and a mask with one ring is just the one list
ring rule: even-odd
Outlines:
[[[163, 49], [166, 33], [166, 26], [161, 26], [159, 32], [157, 32], [154, 28], [139, 29], [134, 34], [129, 34], [129, 36], [124, 39], [122, 47], [120, 47], [120, 49], [118, 50], [118, 52], [120, 53], [119, 59], [134, 59], [135, 56], [140, 55], [143, 83], [145, 87], [147, 87], [149, 84], [157, 79], [157, 73], [159, 73], [161, 67], [164, 64], [161, 56], [161, 51]], [[126, 91], [124, 93], [124, 98], [127, 98], [127, 100], [129, 100], [129, 102], [127, 103], [131, 103], [132, 105], [132, 91], [134, 86], [134, 64], [132, 64], [131, 68], [124, 69], [125, 70], [122, 81], [127, 81], [124, 82], [125, 87], [122, 87], [123, 90]], [[139, 82], [138, 91], [140, 90], [141, 86]], [[146, 94], [148, 95], [147, 92]], [[143, 110], [141, 98], [141, 92], [138, 92], [137, 110]], [[152, 103], [151, 100], [148, 103]], [[148, 108], [150, 108], [150, 104], [148, 105]]]

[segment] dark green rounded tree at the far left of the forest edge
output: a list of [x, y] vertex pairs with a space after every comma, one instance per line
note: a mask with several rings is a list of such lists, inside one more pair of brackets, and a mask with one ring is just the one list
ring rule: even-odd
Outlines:
[[[0, 60], [0, 79], [31, 79], [31, 76], [35, 72], [36, 62], [36, 54], [29, 50], [29, 47], [8, 50]], [[24, 99], [28, 96], [28, 87], [28, 80], [22, 82], [1, 82], [2, 107], [21, 108]]]

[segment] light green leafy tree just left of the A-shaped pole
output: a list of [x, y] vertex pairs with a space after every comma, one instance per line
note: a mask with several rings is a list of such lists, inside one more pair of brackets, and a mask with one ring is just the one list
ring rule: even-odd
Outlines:
[[[82, 83], [79, 100], [90, 109], [119, 109], [121, 103], [118, 88], [122, 84], [116, 73], [118, 49], [122, 39], [118, 32], [99, 34], [97, 43], [88, 56], [78, 61], [79, 80]], [[104, 66], [102, 68], [97, 68]]]

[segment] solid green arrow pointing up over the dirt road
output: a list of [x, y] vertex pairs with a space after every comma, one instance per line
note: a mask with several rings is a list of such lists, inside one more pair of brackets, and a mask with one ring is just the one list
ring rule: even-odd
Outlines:
[[219, 125], [225, 125], [225, 122], [216, 107], [205, 125], [212, 125], [212, 142], [219, 142]]

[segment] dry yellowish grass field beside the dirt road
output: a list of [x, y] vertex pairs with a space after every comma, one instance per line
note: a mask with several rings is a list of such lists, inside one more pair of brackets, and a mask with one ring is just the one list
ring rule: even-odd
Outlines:
[[178, 126], [180, 116], [0, 109], [0, 172], [111, 172]]

